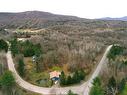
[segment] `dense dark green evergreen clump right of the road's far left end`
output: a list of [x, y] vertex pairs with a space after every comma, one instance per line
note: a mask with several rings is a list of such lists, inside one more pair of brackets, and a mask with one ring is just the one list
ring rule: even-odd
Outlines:
[[11, 51], [13, 56], [16, 54], [23, 54], [25, 57], [31, 57], [33, 55], [39, 55], [41, 50], [40, 44], [33, 44], [30, 41], [17, 41], [17, 39], [13, 39], [10, 41], [11, 43]]

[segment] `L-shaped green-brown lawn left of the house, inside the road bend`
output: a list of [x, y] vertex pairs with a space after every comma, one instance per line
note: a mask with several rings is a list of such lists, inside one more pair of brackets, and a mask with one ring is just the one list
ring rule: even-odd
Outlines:
[[35, 70], [35, 63], [32, 63], [32, 59], [30, 57], [24, 58], [24, 63], [27, 73], [25, 76], [25, 80], [32, 84], [42, 87], [52, 86], [52, 81], [50, 80], [49, 72], [45, 71], [37, 73]]

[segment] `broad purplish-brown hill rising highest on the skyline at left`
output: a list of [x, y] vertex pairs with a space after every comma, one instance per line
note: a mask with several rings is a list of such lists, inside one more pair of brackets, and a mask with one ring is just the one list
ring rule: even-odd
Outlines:
[[34, 28], [51, 25], [52, 22], [81, 20], [76, 16], [57, 15], [41, 11], [0, 13], [0, 27]]

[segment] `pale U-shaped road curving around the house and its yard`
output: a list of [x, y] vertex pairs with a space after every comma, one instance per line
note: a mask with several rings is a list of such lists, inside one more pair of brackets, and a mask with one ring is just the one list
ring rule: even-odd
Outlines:
[[56, 94], [56, 95], [60, 95], [60, 94], [67, 94], [67, 92], [69, 90], [71, 90], [74, 93], [77, 93], [79, 95], [89, 95], [89, 91], [90, 88], [92, 87], [92, 81], [93, 79], [98, 76], [99, 72], [101, 71], [102, 65], [107, 63], [107, 58], [106, 55], [109, 52], [110, 48], [112, 47], [112, 45], [108, 46], [100, 63], [98, 64], [95, 72], [93, 73], [92, 77], [90, 78], [90, 80], [88, 80], [87, 82], [84, 82], [82, 85], [78, 85], [78, 86], [71, 86], [71, 87], [51, 87], [51, 88], [46, 88], [46, 87], [39, 87], [33, 84], [30, 84], [28, 82], [26, 82], [25, 80], [23, 80], [19, 74], [17, 73], [14, 63], [13, 63], [13, 59], [12, 59], [12, 55], [11, 55], [11, 51], [8, 51], [6, 54], [7, 57], [7, 63], [8, 63], [8, 68], [9, 70], [13, 73], [16, 82], [19, 86], [21, 86], [22, 88], [32, 91], [32, 92], [36, 92], [36, 93], [40, 93], [40, 94], [44, 94], [44, 95], [50, 95], [50, 94]]

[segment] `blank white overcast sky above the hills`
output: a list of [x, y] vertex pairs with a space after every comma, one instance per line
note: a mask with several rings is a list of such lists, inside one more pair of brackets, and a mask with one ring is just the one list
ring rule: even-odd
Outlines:
[[127, 0], [0, 0], [0, 12], [44, 11], [82, 18], [127, 16]]

